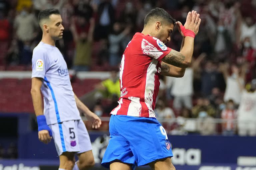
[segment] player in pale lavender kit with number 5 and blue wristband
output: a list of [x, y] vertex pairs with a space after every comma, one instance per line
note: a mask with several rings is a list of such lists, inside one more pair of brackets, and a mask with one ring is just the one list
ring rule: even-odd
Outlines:
[[[67, 64], [55, 46], [55, 41], [62, 38], [64, 30], [59, 11], [43, 10], [38, 20], [43, 36], [33, 50], [31, 87], [38, 138], [46, 144], [51, 136], [54, 139], [60, 159], [59, 170], [86, 170], [94, 165], [94, 158], [90, 137], [79, 110], [93, 128], [99, 128], [101, 120], [74, 94]], [[44, 107], [40, 89], [44, 96]], [[77, 162], [75, 153], [79, 158]]]

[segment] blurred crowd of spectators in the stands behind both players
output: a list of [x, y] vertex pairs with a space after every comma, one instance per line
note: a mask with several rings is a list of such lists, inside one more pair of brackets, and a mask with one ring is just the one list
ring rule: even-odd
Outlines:
[[[191, 10], [202, 20], [184, 77], [161, 78], [155, 112], [167, 131], [256, 135], [256, 0], [0, 0], [0, 65], [30, 70], [42, 34], [37, 15], [57, 8], [65, 30], [56, 46], [68, 68], [114, 70], [95, 86], [101, 95], [91, 107], [108, 116], [120, 97], [122, 52], [154, 7], [183, 24]], [[179, 50], [181, 42], [175, 27], [166, 45]]]

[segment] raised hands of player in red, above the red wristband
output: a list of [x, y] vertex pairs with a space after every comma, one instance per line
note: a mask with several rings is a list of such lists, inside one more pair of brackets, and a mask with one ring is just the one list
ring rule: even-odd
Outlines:
[[[188, 12], [186, 23], [184, 24], [185, 29], [191, 30], [195, 33], [195, 35], [197, 35], [199, 26], [201, 23], [201, 19], [199, 17], [200, 17], [200, 14], [198, 14], [194, 10], [192, 12]], [[178, 21], [178, 22], [176, 22], [176, 24], [179, 26], [178, 29], [179, 29], [179, 32], [181, 33], [181, 35], [183, 37], [185, 37], [183, 34], [183, 31], [181, 31], [181, 27], [183, 27], [181, 22]]]

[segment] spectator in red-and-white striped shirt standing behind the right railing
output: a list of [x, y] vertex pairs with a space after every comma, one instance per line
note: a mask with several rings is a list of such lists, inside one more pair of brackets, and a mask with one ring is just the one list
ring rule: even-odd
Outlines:
[[235, 120], [237, 118], [237, 113], [235, 109], [235, 104], [233, 100], [229, 100], [226, 103], [226, 108], [221, 112], [222, 123], [222, 134], [223, 135], [233, 135], [236, 131]]

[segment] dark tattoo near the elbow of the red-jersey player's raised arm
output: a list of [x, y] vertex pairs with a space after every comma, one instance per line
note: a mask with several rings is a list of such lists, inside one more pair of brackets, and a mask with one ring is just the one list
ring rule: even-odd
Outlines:
[[164, 57], [166, 63], [180, 67], [185, 60], [185, 56], [178, 51], [171, 50], [169, 54]]

